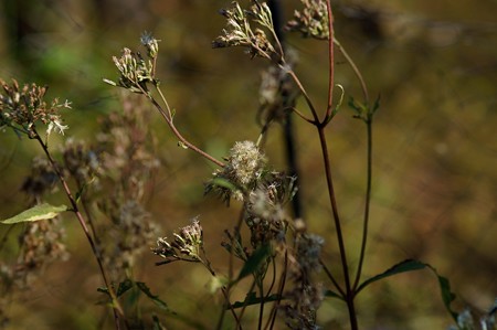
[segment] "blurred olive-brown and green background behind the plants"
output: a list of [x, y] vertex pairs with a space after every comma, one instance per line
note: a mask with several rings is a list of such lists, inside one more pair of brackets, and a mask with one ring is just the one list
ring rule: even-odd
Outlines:
[[[299, 6], [293, 0], [282, 4], [286, 19]], [[0, 77], [46, 84], [49, 97], [72, 100], [73, 110], [65, 117], [67, 135], [91, 140], [98, 118], [120, 107], [116, 89], [102, 82], [116, 77], [110, 57], [124, 46], [137, 47], [144, 31], [152, 32], [161, 40], [158, 75], [177, 109], [179, 129], [221, 157], [234, 141], [258, 136], [260, 72], [266, 65], [240, 49], [211, 49], [224, 26], [218, 10], [226, 6], [229, 1], [220, 0], [2, 0]], [[373, 128], [364, 277], [417, 258], [450, 278], [458, 296], [455, 308], [484, 311], [497, 296], [497, 2], [336, 1], [335, 15], [337, 38], [357, 62], [371, 96], [381, 95]], [[296, 34], [286, 41], [299, 54], [298, 75], [322, 108], [326, 44]], [[345, 87], [346, 97], [360, 98], [351, 70], [337, 57], [336, 82]], [[177, 148], [166, 125], [154, 116], [149, 129], [160, 141], [162, 167], [149, 211], [163, 236], [200, 215], [208, 253], [222, 273], [226, 253], [220, 239], [224, 228], [232, 227], [240, 205], [226, 209], [203, 196], [203, 182], [213, 168]], [[302, 120], [294, 124], [304, 217], [311, 232], [326, 238], [327, 259], [338, 269], [317, 135]], [[285, 169], [282, 132], [273, 127], [266, 153], [276, 168]], [[353, 264], [361, 237], [366, 130], [343, 106], [327, 134]], [[23, 210], [20, 187], [30, 159], [39, 153], [34, 142], [0, 132], [2, 219]], [[31, 291], [13, 299], [9, 329], [98, 327], [97, 266], [78, 224], [65, 221], [70, 260], [52, 265]], [[135, 277], [172, 309], [213, 328], [221, 300], [208, 289], [209, 274], [190, 264], [155, 267], [156, 260], [145, 253]], [[446, 329], [452, 320], [437, 290], [429, 272], [378, 283], [358, 298], [362, 328]], [[324, 302], [319, 319], [324, 329], [347, 324], [343, 306], [334, 300]], [[163, 321], [171, 329], [188, 329], [166, 317]], [[112, 328], [104, 322], [107, 326]]]

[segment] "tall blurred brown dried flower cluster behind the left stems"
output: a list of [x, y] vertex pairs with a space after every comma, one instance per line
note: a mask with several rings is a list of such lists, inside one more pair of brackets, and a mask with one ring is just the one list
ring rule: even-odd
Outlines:
[[[112, 193], [99, 195], [96, 204], [110, 220], [99, 230], [104, 260], [115, 276], [135, 264], [158, 232], [144, 206], [150, 180], [160, 166], [148, 125], [148, 109], [131, 95], [123, 100], [120, 114], [104, 118], [97, 136], [98, 180], [102, 190]], [[98, 191], [94, 195], [98, 196]]]

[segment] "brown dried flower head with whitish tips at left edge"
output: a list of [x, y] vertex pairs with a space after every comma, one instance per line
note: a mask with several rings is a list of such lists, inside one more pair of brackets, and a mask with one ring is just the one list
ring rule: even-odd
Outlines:
[[15, 132], [27, 134], [30, 138], [38, 135], [36, 123], [47, 126], [46, 135], [52, 131], [63, 135], [68, 128], [62, 124], [59, 110], [71, 108], [71, 103], [66, 100], [60, 104], [55, 98], [47, 104], [44, 100], [47, 87], [25, 84], [21, 88], [14, 79], [10, 85], [0, 79], [0, 127], [11, 127]]

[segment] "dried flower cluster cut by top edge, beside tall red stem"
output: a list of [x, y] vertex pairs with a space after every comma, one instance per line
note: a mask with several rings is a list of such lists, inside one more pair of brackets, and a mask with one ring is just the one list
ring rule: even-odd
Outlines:
[[327, 40], [329, 36], [328, 8], [325, 0], [300, 0], [304, 4], [302, 11], [294, 12], [294, 19], [285, 29], [298, 31], [304, 36]]

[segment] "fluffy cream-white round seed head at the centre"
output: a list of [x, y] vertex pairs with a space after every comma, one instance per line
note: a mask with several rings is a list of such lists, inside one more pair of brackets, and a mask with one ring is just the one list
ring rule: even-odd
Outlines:
[[[213, 173], [213, 180], [205, 187], [205, 193], [215, 191], [229, 203], [233, 196], [243, 201], [244, 190], [252, 190], [264, 172], [266, 158], [252, 141], [235, 142], [222, 170]], [[219, 181], [225, 181], [221, 185]]]

